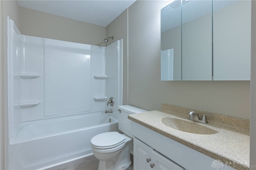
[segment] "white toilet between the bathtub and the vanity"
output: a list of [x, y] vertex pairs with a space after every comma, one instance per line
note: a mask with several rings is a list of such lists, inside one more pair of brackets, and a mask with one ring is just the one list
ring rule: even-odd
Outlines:
[[128, 115], [146, 112], [144, 109], [124, 105], [118, 118], [118, 132], [100, 133], [91, 139], [94, 156], [100, 160], [98, 170], [126, 170], [132, 164], [130, 152], [133, 149], [133, 135], [130, 133]]

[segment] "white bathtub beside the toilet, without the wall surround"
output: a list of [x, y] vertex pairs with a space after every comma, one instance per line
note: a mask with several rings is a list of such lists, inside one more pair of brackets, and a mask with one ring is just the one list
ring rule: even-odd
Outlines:
[[43, 170], [90, 156], [90, 139], [109, 131], [118, 131], [118, 119], [102, 112], [21, 123], [9, 144], [9, 169]]

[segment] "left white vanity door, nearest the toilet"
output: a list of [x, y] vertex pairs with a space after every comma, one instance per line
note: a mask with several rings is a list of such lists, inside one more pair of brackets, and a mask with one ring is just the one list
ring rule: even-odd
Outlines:
[[133, 168], [134, 170], [150, 170], [150, 158], [151, 151], [153, 150], [150, 146], [146, 145], [136, 137], [133, 140], [134, 155], [133, 155]]

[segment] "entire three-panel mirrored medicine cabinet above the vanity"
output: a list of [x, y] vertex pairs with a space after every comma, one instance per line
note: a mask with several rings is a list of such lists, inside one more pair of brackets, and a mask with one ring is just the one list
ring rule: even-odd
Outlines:
[[176, 0], [164, 7], [161, 80], [250, 80], [250, 19], [250, 0]]

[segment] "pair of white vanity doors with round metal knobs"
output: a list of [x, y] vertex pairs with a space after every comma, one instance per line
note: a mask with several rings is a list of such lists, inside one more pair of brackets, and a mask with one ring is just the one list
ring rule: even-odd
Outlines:
[[134, 137], [134, 170], [185, 170], [146, 143]]

